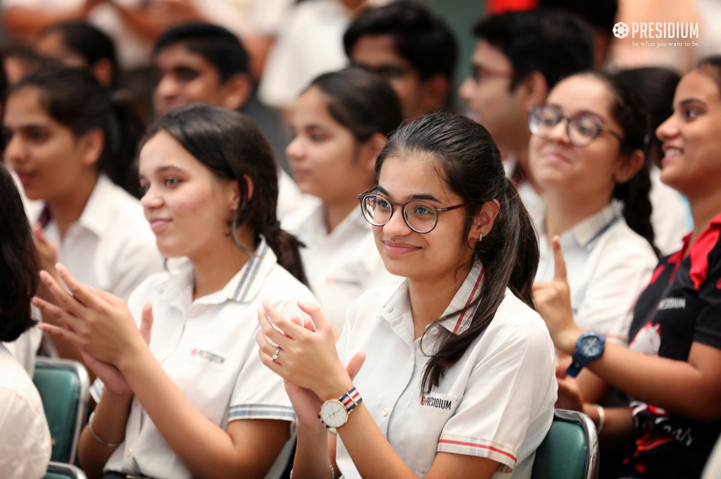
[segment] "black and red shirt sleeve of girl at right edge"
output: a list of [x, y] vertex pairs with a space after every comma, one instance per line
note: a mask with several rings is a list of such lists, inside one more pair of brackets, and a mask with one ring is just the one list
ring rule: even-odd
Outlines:
[[[694, 285], [698, 284], [699, 297], [699, 317], [696, 319], [694, 341], [721, 349], [721, 240], [718, 229], [707, 230], [707, 235], [710, 234], [715, 236], [715, 246], [706, 258], [696, 260], [693, 258], [694, 252], [691, 251], [691, 281]], [[706, 238], [699, 236], [696, 243], [704, 239]], [[707, 260], [707, 263], [702, 263], [702, 259]]]

